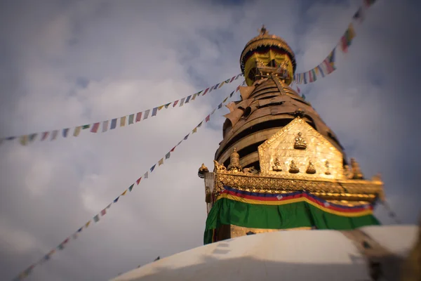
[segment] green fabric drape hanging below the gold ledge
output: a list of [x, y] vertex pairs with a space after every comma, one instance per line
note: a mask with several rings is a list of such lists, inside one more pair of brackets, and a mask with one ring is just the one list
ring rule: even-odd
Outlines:
[[264, 205], [221, 198], [208, 214], [204, 244], [212, 242], [215, 228], [230, 224], [246, 228], [286, 229], [315, 226], [317, 229], [349, 230], [380, 223], [373, 215], [339, 216], [322, 211], [307, 202]]

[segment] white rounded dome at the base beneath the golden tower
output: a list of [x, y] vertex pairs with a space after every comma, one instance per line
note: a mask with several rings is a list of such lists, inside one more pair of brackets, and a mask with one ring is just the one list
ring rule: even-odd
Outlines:
[[[368, 226], [360, 230], [399, 259], [415, 244], [418, 228]], [[370, 280], [370, 277], [366, 258], [342, 232], [290, 230], [197, 247], [131, 270], [113, 280], [355, 281]]]

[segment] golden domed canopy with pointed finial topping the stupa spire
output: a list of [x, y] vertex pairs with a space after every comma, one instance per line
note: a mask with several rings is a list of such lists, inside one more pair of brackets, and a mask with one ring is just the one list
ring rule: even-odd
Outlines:
[[295, 54], [293, 50], [288, 44], [286, 44], [286, 41], [284, 41], [281, 37], [269, 34], [265, 25], [263, 25], [260, 29], [260, 34], [248, 41], [243, 51], [241, 52], [240, 65], [241, 71], [243, 73], [244, 65], [249, 55], [253, 54], [254, 51], [258, 50], [258, 48], [265, 47], [279, 48], [281, 51], [288, 53], [288, 55], [290, 56], [290, 60], [293, 63], [293, 71], [295, 72], [295, 69], [297, 68], [297, 63], [295, 62]]

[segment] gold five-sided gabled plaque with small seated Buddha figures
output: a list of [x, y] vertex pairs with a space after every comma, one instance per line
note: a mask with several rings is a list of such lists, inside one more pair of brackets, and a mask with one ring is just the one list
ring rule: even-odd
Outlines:
[[344, 179], [342, 153], [300, 117], [262, 143], [258, 153], [262, 175]]

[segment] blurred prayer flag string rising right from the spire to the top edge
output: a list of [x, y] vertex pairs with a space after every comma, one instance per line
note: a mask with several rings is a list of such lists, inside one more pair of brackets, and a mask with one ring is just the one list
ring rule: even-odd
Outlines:
[[329, 55], [316, 67], [307, 72], [294, 74], [294, 81], [296, 84], [309, 84], [316, 81], [319, 78], [323, 78], [326, 75], [336, 70], [335, 66], [335, 52], [338, 46], [342, 53], [348, 53], [348, 48], [352, 44], [352, 40], [356, 37], [353, 22], [361, 24], [366, 15], [366, 10], [375, 3], [375, 0], [363, 0], [363, 5], [352, 16], [352, 22], [349, 23], [347, 30], [340, 37], [340, 41], [335, 45], [335, 48], [329, 53]]

